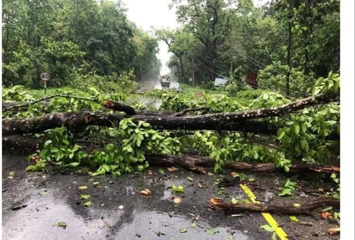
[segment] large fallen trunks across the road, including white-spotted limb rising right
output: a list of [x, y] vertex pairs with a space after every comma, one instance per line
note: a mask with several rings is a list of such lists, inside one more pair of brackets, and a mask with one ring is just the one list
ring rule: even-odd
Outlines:
[[[106, 108], [123, 111], [127, 115], [122, 116], [109, 113], [81, 111], [51, 113], [33, 118], [8, 118], [2, 119], [2, 132], [4, 135], [11, 135], [38, 133], [47, 129], [61, 126], [71, 128], [82, 127], [86, 125], [112, 126], [112, 122], [114, 120], [121, 120], [123, 117], [134, 117], [135, 121], [145, 121], [155, 129], [241, 131], [259, 134], [275, 134], [277, 131], [276, 126], [266, 122], [250, 119], [280, 116], [299, 109], [303, 109], [305, 107], [314, 106], [316, 104], [333, 102], [338, 98], [339, 95], [337, 94], [320, 94], [278, 107], [259, 108], [243, 112], [227, 112], [188, 116], [177, 116], [184, 114], [184, 112], [175, 113], [172, 115], [168, 115], [169, 113], [166, 112], [158, 112], [154, 114], [154, 112], [151, 110], [140, 111], [141, 113], [148, 115], [136, 115], [139, 113], [139, 111], [136, 111], [131, 106], [106, 100], [103, 103]], [[12, 106], [11, 108], [14, 107], [15, 106]]]

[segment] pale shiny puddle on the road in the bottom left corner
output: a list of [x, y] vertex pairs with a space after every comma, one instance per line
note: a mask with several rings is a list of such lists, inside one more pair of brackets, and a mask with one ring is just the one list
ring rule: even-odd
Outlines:
[[[30, 199], [26, 204], [27, 207], [20, 210], [3, 213], [7, 215], [2, 222], [3, 240], [104, 240], [109, 234], [109, 226], [121, 214], [110, 210], [110, 215], [114, 213], [115, 216], [107, 218], [106, 210], [95, 210], [96, 216], [91, 217], [93, 209], [85, 209], [89, 216], [84, 219], [71, 206], [51, 197]], [[101, 216], [105, 217], [101, 219]], [[66, 229], [53, 226], [58, 222], [67, 223]]]

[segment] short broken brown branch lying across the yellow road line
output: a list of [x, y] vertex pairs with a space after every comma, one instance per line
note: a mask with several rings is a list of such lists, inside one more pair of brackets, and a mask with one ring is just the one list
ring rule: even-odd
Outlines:
[[240, 212], [240, 211], [256, 211], [256, 212], [275, 212], [284, 214], [311, 214], [311, 211], [319, 207], [335, 206], [340, 207], [340, 201], [334, 198], [319, 198], [308, 204], [304, 204], [298, 207], [295, 206], [281, 206], [281, 205], [264, 205], [264, 204], [230, 204], [223, 202], [221, 198], [210, 199], [210, 204], [218, 209], [222, 209], [227, 212]]

